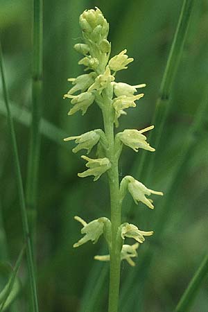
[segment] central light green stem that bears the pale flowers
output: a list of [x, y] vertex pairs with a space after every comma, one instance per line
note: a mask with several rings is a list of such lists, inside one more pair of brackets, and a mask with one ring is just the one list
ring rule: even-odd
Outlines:
[[[107, 104], [107, 103], [106, 103]], [[111, 105], [105, 105], [103, 110], [103, 121], [105, 136], [108, 142], [107, 157], [112, 164], [108, 171], [110, 187], [111, 223], [112, 223], [112, 245], [110, 248], [110, 288], [108, 312], [117, 312], [119, 305], [119, 285], [121, 270], [121, 244], [117, 233], [121, 225], [121, 200], [119, 196], [119, 169], [118, 157], [114, 154], [114, 121]]]

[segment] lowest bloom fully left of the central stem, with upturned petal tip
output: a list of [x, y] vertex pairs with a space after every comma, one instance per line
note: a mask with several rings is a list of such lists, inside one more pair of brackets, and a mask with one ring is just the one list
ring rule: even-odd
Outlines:
[[87, 243], [87, 241], [92, 241], [92, 243], [95, 244], [99, 237], [103, 234], [104, 223], [108, 220], [107, 218], [103, 217], [86, 223], [85, 220], [79, 216], [75, 216], [74, 218], [83, 225], [81, 233], [85, 234], [85, 236], [80, 239], [78, 243], [73, 244], [74, 248]]

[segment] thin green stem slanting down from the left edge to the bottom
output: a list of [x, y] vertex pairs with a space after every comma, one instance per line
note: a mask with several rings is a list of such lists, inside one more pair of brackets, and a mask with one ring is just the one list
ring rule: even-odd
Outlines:
[[14, 123], [12, 120], [12, 114], [10, 112], [10, 105], [8, 102], [8, 92], [7, 92], [6, 80], [4, 76], [4, 70], [3, 70], [3, 56], [2, 56], [2, 51], [1, 51], [1, 42], [0, 42], [0, 68], [1, 68], [1, 80], [2, 80], [2, 87], [3, 87], [3, 98], [5, 101], [6, 110], [8, 114], [8, 127], [10, 130], [12, 152], [14, 154], [14, 159], [15, 159], [15, 173], [17, 177], [17, 190], [18, 190], [18, 196], [19, 196], [19, 205], [21, 209], [24, 239], [26, 241], [26, 256], [27, 256], [28, 274], [29, 274], [29, 279], [30, 279], [30, 284], [31, 284], [31, 298], [33, 302], [33, 312], [38, 312], [39, 310], [38, 310], [38, 303], [37, 303], [35, 267], [34, 267], [33, 252], [32, 252], [32, 247], [31, 247], [31, 235], [30, 235], [29, 227], [28, 227], [28, 216], [27, 216], [26, 204], [25, 204], [25, 199], [24, 199], [24, 189], [23, 189], [23, 183], [22, 183], [21, 171], [20, 171], [20, 165], [19, 165], [19, 155], [18, 155], [18, 150], [17, 150], [17, 141], [15, 137], [15, 128], [14, 128]]

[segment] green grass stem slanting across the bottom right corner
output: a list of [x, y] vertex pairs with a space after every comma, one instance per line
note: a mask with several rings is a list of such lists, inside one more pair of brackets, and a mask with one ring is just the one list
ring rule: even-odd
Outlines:
[[191, 308], [191, 304], [196, 297], [198, 290], [202, 282], [207, 277], [208, 273], [208, 254], [206, 254], [205, 258], [202, 260], [200, 267], [196, 271], [195, 275], [191, 279], [189, 286], [186, 291], [182, 295], [180, 302], [178, 302], [175, 312], [187, 312]]

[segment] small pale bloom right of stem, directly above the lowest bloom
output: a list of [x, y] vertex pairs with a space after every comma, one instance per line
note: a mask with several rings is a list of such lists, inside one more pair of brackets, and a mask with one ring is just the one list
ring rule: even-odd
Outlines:
[[153, 235], [153, 231], [141, 231], [136, 225], [130, 223], [123, 223], [121, 225], [121, 237], [123, 240], [125, 237], [128, 237], [130, 239], [135, 239], [135, 241], [138, 241], [139, 243], [143, 243], [145, 241], [144, 236], [151, 235]]

